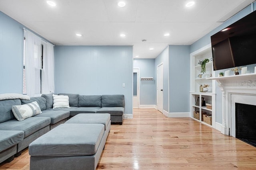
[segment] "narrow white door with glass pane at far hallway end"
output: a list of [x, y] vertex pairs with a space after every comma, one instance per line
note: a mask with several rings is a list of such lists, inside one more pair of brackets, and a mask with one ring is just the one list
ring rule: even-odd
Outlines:
[[133, 108], [139, 108], [139, 69], [133, 69]]

